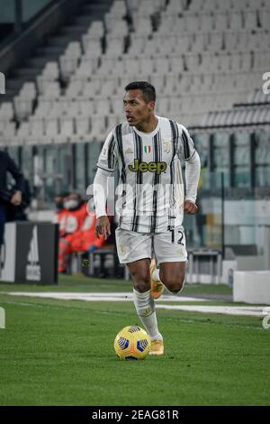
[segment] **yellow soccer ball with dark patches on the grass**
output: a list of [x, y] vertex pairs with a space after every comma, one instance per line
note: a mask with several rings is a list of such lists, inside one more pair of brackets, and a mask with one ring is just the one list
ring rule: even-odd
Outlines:
[[139, 326], [124, 327], [114, 340], [115, 353], [121, 360], [144, 359], [150, 348], [150, 337]]

